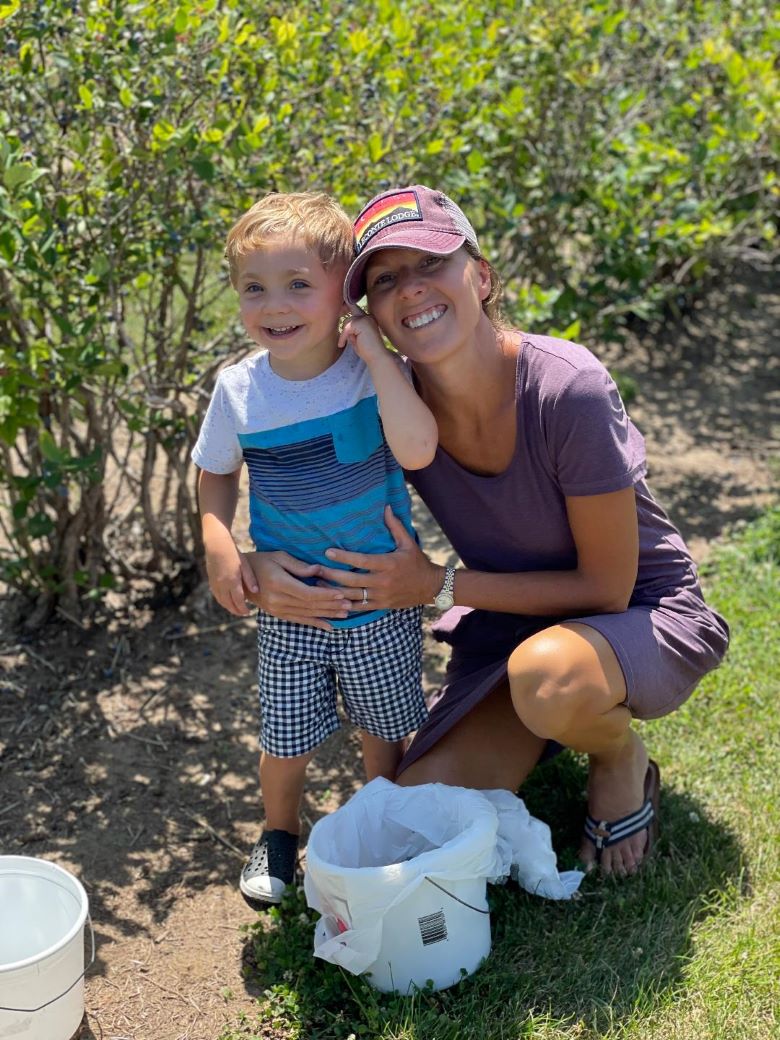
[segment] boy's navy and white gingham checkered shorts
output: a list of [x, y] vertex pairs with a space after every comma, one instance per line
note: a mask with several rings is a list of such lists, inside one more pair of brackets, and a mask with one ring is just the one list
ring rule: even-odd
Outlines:
[[258, 612], [260, 747], [278, 758], [313, 751], [347, 718], [398, 740], [427, 718], [422, 697], [422, 608], [330, 632]]

